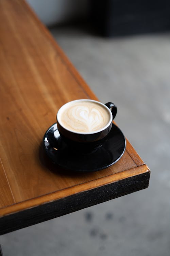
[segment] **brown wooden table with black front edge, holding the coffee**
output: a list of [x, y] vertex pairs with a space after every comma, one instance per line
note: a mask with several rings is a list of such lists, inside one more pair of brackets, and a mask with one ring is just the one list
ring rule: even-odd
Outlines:
[[0, 1], [0, 35], [0, 234], [148, 187], [150, 171], [128, 140], [102, 171], [47, 161], [42, 139], [57, 110], [97, 98], [26, 2]]

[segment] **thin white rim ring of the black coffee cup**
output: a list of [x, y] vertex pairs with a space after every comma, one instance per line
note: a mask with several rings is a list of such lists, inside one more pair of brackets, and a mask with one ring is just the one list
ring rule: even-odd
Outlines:
[[[109, 119], [109, 122], [107, 123], [107, 125], [105, 125], [103, 128], [101, 128], [101, 129], [99, 129], [99, 130], [97, 130], [97, 131], [94, 131], [94, 132], [76, 132], [76, 131], [72, 131], [72, 130], [69, 130], [69, 129], [67, 129], [66, 127], [64, 127], [64, 126], [60, 123], [60, 120], [59, 120], [59, 118], [58, 118], [59, 115], [60, 115], [61, 109], [62, 109], [64, 106], [70, 104], [71, 102], [75, 102], [75, 101], [77, 101], [77, 102], [79, 102], [79, 101], [90, 101], [90, 102], [95, 102], [95, 103], [98, 103], [99, 105], [102, 105], [102, 106], [108, 111], [108, 113], [109, 113], [109, 115], [110, 115], [110, 119]], [[60, 124], [60, 126], [61, 126], [63, 129], [65, 129], [65, 130], [67, 130], [67, 131], [69, 131], [69, 132], [75, 133], [75, 134], [82, 134], [82, 135], [95, 134], [95, 133], [104, 131], [104, 130], [105, 130], [106, 128], [108, 128], [109, 125], [113, 122], [113, 116], [112, 116], [111, 110], [110, 110], [105, 104], [101, 103], [100, 101], [97, 101], [97, 100], [90, 100], [90, 99], [78, 99], [78, 100], [72, 100], [72, 101], [69, 101], [69, 102], [65, 103], [65, 104], [62, 105], [61, 108], [58, 110], [56, 119], [57, 119], [57, 122]]]

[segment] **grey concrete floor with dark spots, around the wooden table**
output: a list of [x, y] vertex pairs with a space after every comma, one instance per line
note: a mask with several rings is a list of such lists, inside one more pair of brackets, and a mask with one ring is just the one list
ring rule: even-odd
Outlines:
[[4, 256], [170, 255], [170, 33], [104, 39], [51, 29], [151, 169], [149, 188], [1, 236]]

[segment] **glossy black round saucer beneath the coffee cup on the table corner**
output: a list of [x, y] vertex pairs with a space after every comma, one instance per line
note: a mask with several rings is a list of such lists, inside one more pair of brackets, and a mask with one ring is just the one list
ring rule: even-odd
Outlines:
[[99, 171], [116, 163], [123, 155], [126, 141], [121, 130], [112, 125], [103, 144], [90, 153], [75, 150], [61, 138], [57, 124], [46, 131], [43, 144], [48, 157], [58, 166], [71, 171]]

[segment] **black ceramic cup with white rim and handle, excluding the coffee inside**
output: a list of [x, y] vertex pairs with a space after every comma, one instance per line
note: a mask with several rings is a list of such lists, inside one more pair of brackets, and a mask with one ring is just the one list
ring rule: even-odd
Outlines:
[[[76, 131], [72, 131], [67, 129], [66, 127], [64, 127], [64, 125], [62, 125], [61, 122], [61, 115], [62, 115], [62, 111], [63, 108], [68, 108], [69, 104], [70, 106], [72, 105], [72, 103], [77, 103], [77, 102], [84, 102], [84, 101], [88, 101], [88, 102], [94, 102], [97, 103], [101, 106], [103, 106], [103, 108], [107, 111], [107, 114], [109, 115], [109, 121], [108, 123], [100, 130], [97, 131], [93, 131], [93, 132], [76, 132]], [[103, 104], [101, 102], [95, 101], [95, 100], [88, 100], [88, 99], [82, 99], [82, 100], [74, 100], [74, 101], [70, 101], [66, 104], [64, 104], [57, 113], [57, 127], [58, 127], [58, 131], [61, 135], [61, 137], [67, 142], [67, 143], [76, 143], [79, 145], [93, 145], [95, 146], [96, 144], [99, 144], [102, 140], [104, 140], [104, 138], [107, 136], [107, 134], [109, 133], [109, 131], [112, 128], [112, 121], [115, 118], [117, 113], [117, 107], [114, 103], [112, 102], [108, 102], [106, 104]]]

